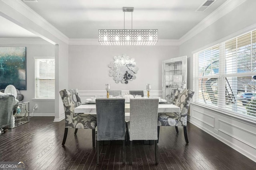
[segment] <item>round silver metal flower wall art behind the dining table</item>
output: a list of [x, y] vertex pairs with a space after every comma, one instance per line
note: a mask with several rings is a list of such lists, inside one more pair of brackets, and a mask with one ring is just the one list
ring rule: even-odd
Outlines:
[[114, 56], [114, 61], [108, 64], [109, 76], [113, 77], [116, 83], [128, 83], [128, 80], [132, 81], [136, 79], [135, 74], [138, 72], [139, 68], [136, 66], [134, 58], [127, 55]]

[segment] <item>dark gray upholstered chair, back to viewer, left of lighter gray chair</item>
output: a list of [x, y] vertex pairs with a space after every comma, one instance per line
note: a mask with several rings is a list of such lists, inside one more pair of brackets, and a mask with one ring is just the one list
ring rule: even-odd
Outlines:
[[125, 162], [124, 98], [96, 99], [97, 112], [97, 166], [99, 165], [100, 141], [122, 140], [123, 162]]

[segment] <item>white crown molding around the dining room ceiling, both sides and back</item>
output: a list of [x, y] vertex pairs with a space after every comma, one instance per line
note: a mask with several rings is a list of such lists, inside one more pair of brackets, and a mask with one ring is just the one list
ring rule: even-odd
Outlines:
[[[10, 8], [14, 9], [16, 12], [22, 14], [24, 17], [28, 18], [30, 21], [36, 23], [44, 30], [51, 33], [53, 36], [57, 37], [64, 43], [69, 45], [100, 45], [98, 43], [98, 39], [83, 39], [83, 38], [75, 38], [69, 39], [66, 35], [64, 35], [61, 31], [59, 31], [56, 27], [51, 25], [48, 21], [42, 18], [39, 14], [34, 12], [31, 8], [29, 8], [26, 4], [21, 2], [20, 0], [1, 0]], [[178, 46], [182, 45], [184, 42], [188, 41], [196, 34], [203, 31], [206, 27], [220, 19], [222, 16], [228, 14], [234, 8], [244, 3], [246, 0], [227, 0], [222, 4], [219, 8], [217, 8], [214, 12], [208, 15], [204, 20], [198, 23], [195, 27], [190, 29], [185, 35], [183, 35], [180, 39], [158, 39], [158, 43], [156, 46]], [[38, 35], [46, 41], [54, 44], [53, 41], [47, 39], [42, 35]]]

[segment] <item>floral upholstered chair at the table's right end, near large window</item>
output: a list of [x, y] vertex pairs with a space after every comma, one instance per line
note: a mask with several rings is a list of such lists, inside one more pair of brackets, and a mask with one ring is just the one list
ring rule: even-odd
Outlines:
[[[178, 92], [177, 92], [178, 91]], [[176, 95], [178, 94], [178, 95]], [[184, 137], [186, 143], [188, 143], [187, 135], [187, 116], [190, 101], [194, 95], [194, 92], [190, 89], [188, 90], [176, 90], [175, 94], [175, 105], [180, 107], [181, 112], [176, 113], [158, 113], [158, 139], [160, 126], [175, 126], [176, 132], [178, 131], [178, 126], [183, 126]]]

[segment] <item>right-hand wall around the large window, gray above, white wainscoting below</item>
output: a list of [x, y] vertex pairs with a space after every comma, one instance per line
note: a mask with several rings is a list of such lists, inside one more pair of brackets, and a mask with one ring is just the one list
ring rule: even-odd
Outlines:
[[[212, 25], [180, 45], [179, 55], [188, 56], [188, 88], [193, 82], [192, 52], [256, 29], [256, 1], [247, 0]], [[256, 125], [243, 115], [201, 104], [190, 105], [188, 121], [256, 162]]]

